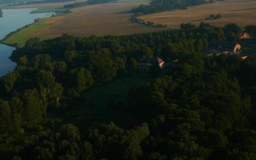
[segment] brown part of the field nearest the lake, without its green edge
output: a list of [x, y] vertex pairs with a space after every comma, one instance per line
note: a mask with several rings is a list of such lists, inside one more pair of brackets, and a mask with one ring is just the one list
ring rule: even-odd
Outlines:
[[160, 28], [144, 27], [129, 22], [131, 8], [141, 2], [97, 4], [75, 8], [72, 14], [58, 17], [54, 24], [34, 34], [39, 37], [72, 34], [77, 36], [102, 36], [108, 34], [133, 34], [158, 31]]

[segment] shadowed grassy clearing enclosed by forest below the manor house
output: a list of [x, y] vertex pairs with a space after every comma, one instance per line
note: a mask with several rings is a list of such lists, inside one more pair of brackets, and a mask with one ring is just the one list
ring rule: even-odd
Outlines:
[[[106, 108], [106, 104], [110, 99], [122, 100], [126, 103], [128, 92], [132, 86], [142, 82], [150, 82], [150, 80], [148, 73], [135, 73], [127, 77], [116, 78], [116, 80], [104, 86], [92, 87], [82, 95], [82, 104], [84, 105], [76, 106], [72, 112], [59, 114], [58, 118], [62, 119], [61, 124], [69, 122], [84, 128], [111, 121], [120, 125], [129, 124], [129, 122], [124, 122], [126, 118], [118, 108], [109, 110]], [[56, 118], [56, 114], [54, 114], [54, 117]]]

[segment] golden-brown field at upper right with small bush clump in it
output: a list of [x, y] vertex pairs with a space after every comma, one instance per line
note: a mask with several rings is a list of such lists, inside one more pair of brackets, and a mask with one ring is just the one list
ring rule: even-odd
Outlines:
[[[205, 20], [211, 14], [221, 14], [218, 20]], [[236, 23], [240, 26], [256, 24], [256, 0], [225, 0], [213, 4], [193, 6], [188, 10], [174, 10], [157, 14], [140, 16], [145, 21], [179, 27], [183, 23], [200, 24], [207, 22], [216, 26]]]

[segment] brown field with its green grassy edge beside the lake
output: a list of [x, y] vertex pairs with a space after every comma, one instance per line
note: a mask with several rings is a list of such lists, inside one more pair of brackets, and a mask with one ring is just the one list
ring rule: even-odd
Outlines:
[[[156, 32], [167, 28], [142, 26], [129, 22], [129, 11], [142, 3], [127, 2], [83, 6], [72, 9], [71, 14], [42, 19], [13, 34], [4, 43], [22, 46], [28, 38], [52, 38], [63, 34], [76, 36], [122, 35]], [[23, 36], [21, 36], [23, 35]]]

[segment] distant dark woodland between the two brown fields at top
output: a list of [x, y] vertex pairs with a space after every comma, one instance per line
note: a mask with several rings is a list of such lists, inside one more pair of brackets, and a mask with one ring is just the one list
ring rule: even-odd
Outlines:
[[197, 6], [200, 4], [212, 3], [213, 0], [153, 0], [149, 5], [141, 4], [137, 8], [133, 8], [132, 12], [142, 14], [152, 14], [169, 10], [187, 9], [189, 6]]

